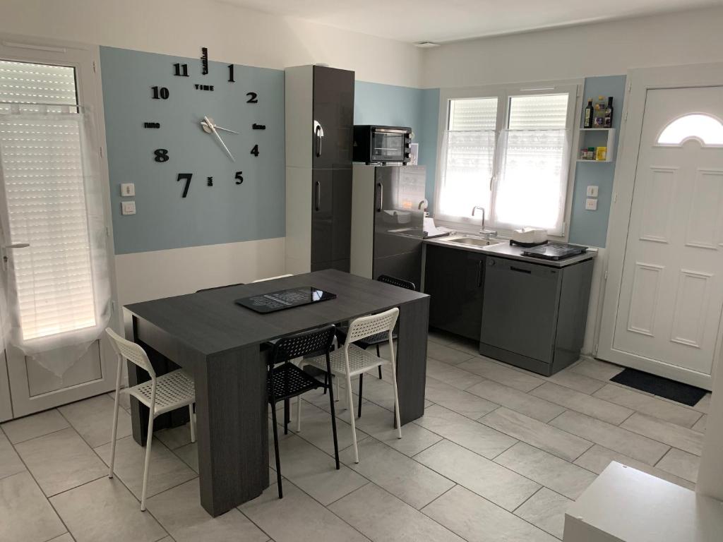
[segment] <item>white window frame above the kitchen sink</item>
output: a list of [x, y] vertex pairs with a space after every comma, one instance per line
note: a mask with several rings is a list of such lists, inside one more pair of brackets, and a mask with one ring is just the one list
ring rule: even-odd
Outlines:
[[[542, 95], [542, 94], [554, 94], [554, 93], [569, 93], [570, 100], [568, 101], [568, 126], [570, 127], [570, 163], [568, 167], [568, 182], [567, 190], [565, 193], [565, 215], [562, 223], [562, 235], [561, 236], [550, 236], [563, 241], [568, 240], [568, 234], [570, 231], [570, 215], [572, 213], [572, 200], [573, 200], [573, 189], [575, 187], [575, 166], [577, 153], [575, 149], [578, 146], [579, 132], [578, 127], [580, 126], [581, 119], [581, 96], [584, 85], [583, 79], [564, 79], [557, 81], [537, 81], [537, 82], [524, 82], [515, 84], [504, 84], [504, 85], [484, 85], [474, 87], [457, 87], [457, 88], [442, 88], [440, 89], [440, 107], [439, 117], [437, 120], [437, 164], [444, 163], [442, 157], [442, 138], [444, 137], [445, 131], [449, 126], [449, 104], [450, 100], [466, 99], [466, 98], [497, 98], [497, 123], [495, 126], [495, 145], [500, 138], [500, 132], [502, 129], [507, 127], [507, 119], [509, 116], [510, 97], [520, 95]], [[495, 168], [497, 165], [497, 147], [495, 146]], [[482, 217], [476, 215], [474, 218], [470, 215], [469, 217], [453, 217], [449, 215], [442, 215], [438, 212], [438, 205], [440, 202], [440, 191], [442, 189], [440, 183], [440, 171], [435, 171], [435, 223], [437, 225], [443, 225], [448, 228], [453, 228], [461, 231], [478, 231], [482, 226]], [[472, 206], [470, 205], [470, 213]], [[489, 222], [490, 212], [489, 209], [485, 210], [487, 217], [485, 222], [485, 228], [497, 229], [501, 237], [509, 237], [512, 233], [511, 230], [500, 229], [495, 224]]]

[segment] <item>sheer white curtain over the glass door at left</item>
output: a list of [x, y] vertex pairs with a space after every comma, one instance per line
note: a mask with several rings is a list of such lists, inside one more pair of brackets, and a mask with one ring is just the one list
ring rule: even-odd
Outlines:
[[111, 316], [103, 190], [90, 112], [35, 108], [0, 114], [0, 243], [30, 245], [7, 251], [2, 320], [61, 376]]

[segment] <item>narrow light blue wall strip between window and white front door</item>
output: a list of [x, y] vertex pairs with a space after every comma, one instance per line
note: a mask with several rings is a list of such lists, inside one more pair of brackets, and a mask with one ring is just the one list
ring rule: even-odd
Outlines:
[[[573, 189], [573, 207], [570, 216], [570, 243], [590, 246], [605, 246], [607, 237], [607, 222], [610, 216], [610, 201], [612, 199], [612, 179], [615, 176], [617, 164], [617, 145], [620, 142], [620, 121], [623, 115], [623, 100], [625, 98], [625, 75], [609, 75], [606, 77], [588, 77], [585, 79], [585, 94], [583, 107], [587, 105], [588, 98], [597, 98], [599, 95], [612, 96], [614, 114], [612, 126], [615, 128], [617, 140], [615, 142], [614, 161], [611, 163], [577, 163], [575, 173], [575, 186]], [[596, 141], [595, 137], [606, 134], [587, 134], [586, 142], [590, 147], [604, 145], [602, 139]], [[582, 147], [578, 145], [578, 147]], [[579, 153], [580, 149], [573, 149]], [[597, 210], [585, 209], [587, 187], [599, 187]]]

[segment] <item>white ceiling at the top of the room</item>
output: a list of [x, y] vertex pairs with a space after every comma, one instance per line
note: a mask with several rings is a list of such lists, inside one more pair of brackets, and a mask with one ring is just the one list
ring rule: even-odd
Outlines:
[[723, 0], [225, 0], [364, 34], [445, 42], [723, 4]]

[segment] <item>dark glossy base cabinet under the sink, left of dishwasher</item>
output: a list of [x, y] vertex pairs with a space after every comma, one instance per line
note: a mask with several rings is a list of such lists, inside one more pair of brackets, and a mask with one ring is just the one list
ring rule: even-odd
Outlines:
[[479, 341], [482, 323], [485, 256], [427, 244], [424, 293], [429, 300], [429, 325]]

